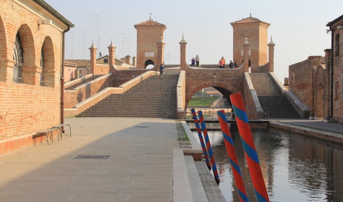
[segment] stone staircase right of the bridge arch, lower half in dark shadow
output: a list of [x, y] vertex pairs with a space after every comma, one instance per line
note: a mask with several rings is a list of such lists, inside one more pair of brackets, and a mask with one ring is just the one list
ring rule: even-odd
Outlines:
[[250, 73], [252, 85], [263, 111], [269, 118], [300, 118], [286, 96], [282, 95], [269, 73]]

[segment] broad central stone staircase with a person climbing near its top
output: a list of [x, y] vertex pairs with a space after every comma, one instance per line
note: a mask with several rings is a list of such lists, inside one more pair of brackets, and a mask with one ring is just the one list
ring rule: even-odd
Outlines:
[[176, 118], [178, 74], [150, 76], [122, 94], [110, 94], [76, 117]]

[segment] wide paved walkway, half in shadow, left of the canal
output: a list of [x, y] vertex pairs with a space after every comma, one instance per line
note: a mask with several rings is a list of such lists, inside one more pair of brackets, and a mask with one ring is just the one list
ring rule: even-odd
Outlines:
[[[0, 157], [0, 201], [172, 201], [174, 120], [70, 118], [72, 137]], [[108, 155], [108, 159], [75, 159]]]

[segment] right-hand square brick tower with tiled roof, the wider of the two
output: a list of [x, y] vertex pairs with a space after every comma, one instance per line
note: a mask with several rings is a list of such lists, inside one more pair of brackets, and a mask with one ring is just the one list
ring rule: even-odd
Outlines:
[[238, 65], [243, 61], [243, 43], [249, 39], [249, 60], [251, 72], [259, 72], [258, 66], [268, 62], [268, 27], [269, 23], [249, 17], [230, 23], [233, 27], [233, 62]]

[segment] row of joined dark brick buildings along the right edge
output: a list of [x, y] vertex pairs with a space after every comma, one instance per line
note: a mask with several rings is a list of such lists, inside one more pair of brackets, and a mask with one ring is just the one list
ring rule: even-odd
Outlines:
[[289, 90], [310, 108], [310, 119], [343, 123], [343, 15], [326, 26], [331, 49], [290, 65]]

